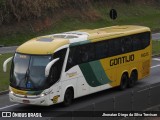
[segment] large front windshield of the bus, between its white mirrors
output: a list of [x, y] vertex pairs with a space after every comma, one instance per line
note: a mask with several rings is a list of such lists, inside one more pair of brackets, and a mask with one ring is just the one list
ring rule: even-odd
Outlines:
[[40, 90], [47, 86], [46, 65], [51, 55], [24, 55], [16, 53], [11, 70], [11, 86], [24, 90]]

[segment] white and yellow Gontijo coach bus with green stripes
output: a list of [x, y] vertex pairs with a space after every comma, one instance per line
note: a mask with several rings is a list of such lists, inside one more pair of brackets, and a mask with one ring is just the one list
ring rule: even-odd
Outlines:
[[17, 48], [10, 70], [10, 101], [49, 106], [119, 86], [150, 73], [148, 27], [124, 25], [34, 38]]

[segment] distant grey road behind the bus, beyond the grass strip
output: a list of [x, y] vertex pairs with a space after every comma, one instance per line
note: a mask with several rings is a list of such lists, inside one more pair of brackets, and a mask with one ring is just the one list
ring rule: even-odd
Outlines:
[[[160, 40], [160, 33], [152, 34], [152, 40]], [[1, 43], [0, 43], [1, 44]], [[17, 46], [11, 46], [11, 47], [0, 47], [0, 54], [4, 53], [14, 53]]]

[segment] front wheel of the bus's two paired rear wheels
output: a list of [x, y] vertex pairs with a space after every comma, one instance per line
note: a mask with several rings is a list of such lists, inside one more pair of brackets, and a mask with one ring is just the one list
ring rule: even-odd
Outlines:
[[120, 84], [120, 90], [124, 90], [127, 87], [127, 83], [128, 83], [128, 76], [127, 74], [123, 74], [121, 77], [121, 84]]

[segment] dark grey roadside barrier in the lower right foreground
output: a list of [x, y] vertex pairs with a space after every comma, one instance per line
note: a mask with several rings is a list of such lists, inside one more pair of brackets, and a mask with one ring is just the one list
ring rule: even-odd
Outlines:
[[[130, 90], [84, 108], [89, 111], [144, 111], [160, 104], [160, 83]], [[92, 106], [92, 107], [91, 107]]]

